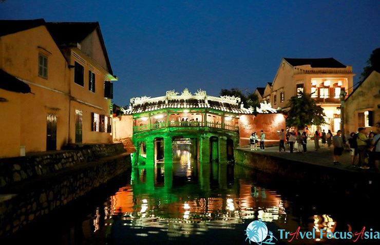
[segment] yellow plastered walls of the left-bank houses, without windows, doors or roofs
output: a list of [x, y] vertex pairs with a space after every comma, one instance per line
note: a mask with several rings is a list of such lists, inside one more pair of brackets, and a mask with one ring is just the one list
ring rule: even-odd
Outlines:
[[[103, 54], [103, 50], [94, 34], [96, 32], [85, 44], [93, 44], [87, 49], [96, 56]], [[71, 65], [74, 65], [74, 60], [81, 63], [74, 58], [72, 51], [85, 61], [83, 87], [74, 83], [74, 69], [68, 68], [68, 62], [45, 26], [0, 38], [0, 68], [27, 83], [32, 92], [24, 95], [0, 90], [0, 97], [10, 101], [0, 104], [2, 114], [4, 111], [6, 115], [0, 119], [0, 127], [7, 130], [1, 136], [1, 146], [4, 147], [0, 157], [18, 156], [20, 146], [25, 146], [27, 153], [45, 151], [49, 113], [58, 115], [57, 149], [74, 143], [75, 109], [83, 111], [82, 143], [112, 142], [110, 133], [91, 131], [91, 112], [111, 117], [111, 101], [104, 98], [103, 86], [108, 72], [78, 48], [64, 51]], [[40, 52], [48, 58], [47, 79], [38, 76]], [[97, 59], [104, 63], [101, 58]], [[89, 64], [96, 74], [95, 93], [88, 90], [88, 70], [92, 69]]]

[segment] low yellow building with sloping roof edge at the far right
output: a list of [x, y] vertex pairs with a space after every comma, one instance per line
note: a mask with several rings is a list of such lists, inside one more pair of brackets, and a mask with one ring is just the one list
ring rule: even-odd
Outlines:
[[345, 131], [356, 132], [365, 127], [367, 133], [376, 132], [380, 121], [380, 70], [372, 71], [346, 99], [344, 107]]

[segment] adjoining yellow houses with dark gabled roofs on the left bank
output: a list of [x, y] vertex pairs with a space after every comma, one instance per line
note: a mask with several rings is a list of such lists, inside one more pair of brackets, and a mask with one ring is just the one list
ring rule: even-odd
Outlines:
[[0, 70], [0, 157], [112, 141], [116, 77], [99, 23], [0, 21]]

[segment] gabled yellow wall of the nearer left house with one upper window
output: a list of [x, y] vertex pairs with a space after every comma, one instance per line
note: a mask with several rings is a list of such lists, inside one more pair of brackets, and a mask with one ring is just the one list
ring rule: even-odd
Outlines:
[[[27, 153], [46, 150], [47, 114], [51, 113], [58, 115], [56, 140], [60, 149], [67, 143], [69, 108], [67, 63], [61, 51], [46, 27], [40, 26], [2, 36], [1, 52], [2, 69], [24, 80], [32, 92], [19, 95], [19, 144]], [[47, 79], [38, 76], [39, 53], [48, 58]]]

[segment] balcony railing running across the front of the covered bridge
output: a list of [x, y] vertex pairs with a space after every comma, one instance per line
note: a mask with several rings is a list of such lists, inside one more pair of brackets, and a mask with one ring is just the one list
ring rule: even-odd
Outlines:
[[[220, 123], [215, 123], [215, 122], [209, 122], [207, 121], [206, 123], [204, 122], [189, 122], [189, 121], [181, 121], [181, 122], [170, 122], [169, 127], [204, 127], [206, 124], [207, 127], [211, 128], [220, 128], [220, 129], [225, 129], [225, 130], [231, 130], [231, 131], [239, 131], [239, 126], [238, 125], [230, 125], [230, 124], [220, 124]], [[150, 130], [154, 129], [159, 129], [159, 128], [165, 128], [166, 127], [166, 122], [161, 122], [161, 123], [154, 123], [150, 125]], [[146, 131], [149, 130], [149, 125], [141, 125], [141, 126], [134, 126], [134, 133], [135, 132], [140, 132], [140, 131]]]

